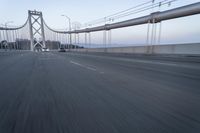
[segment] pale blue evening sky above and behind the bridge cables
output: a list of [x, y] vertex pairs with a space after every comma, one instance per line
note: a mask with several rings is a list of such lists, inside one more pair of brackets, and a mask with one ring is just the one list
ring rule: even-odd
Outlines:
[[[42, 11], [45, 22], [54, 29], [67, 28], [67, 20], [62, 14], [69, 16], [73, 21], [84, 24], [88, 21], [128, 9], [149, 0], [0, 0], [0, 24], [14, 21], [12, 25], [22, 25], [28, 16], [28, 10]], [[155, 0], [161, 1], [161, 0]], [[161, 7], [168, 10], [200, 0], [178, 0], [170, 7]], [[138, 14], [143, 15], [143, 14]], [[134, 18], [136, 16], [130, 16]], [[128, 18], [127, 18], [128, 19]], [[162, 23], [162, 38], [164, 43], [193, 43], [200, 42], [200, 15], [169, 20]], [[113, 30], [113, 43], [142, 44], [146, 38], [146, 25]], [[126, 34], [125, 34], [126, 33]], [[101, 43], [101, 34], [94, 33], [93, 41]]]

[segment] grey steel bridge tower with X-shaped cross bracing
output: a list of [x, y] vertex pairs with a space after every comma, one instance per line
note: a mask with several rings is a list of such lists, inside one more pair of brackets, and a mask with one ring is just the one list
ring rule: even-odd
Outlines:
[[31, 51], [35, 51], [37, 47], [46, 48], [42, 12], [29, 10], [28, 19]]

